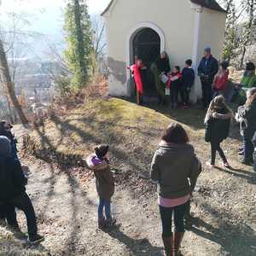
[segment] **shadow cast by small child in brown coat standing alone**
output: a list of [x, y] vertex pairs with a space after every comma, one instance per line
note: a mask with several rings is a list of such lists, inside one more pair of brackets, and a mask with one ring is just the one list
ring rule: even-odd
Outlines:
[[148, 239], [133, 239], [129, 236], [126, 236], [119, 227], [115, 227], [111, 230], [104, 230], [104, 232], [108, 233], [113, 239], [118, 240], [122, 244], [125, 245], [134, 256], [162, 256], [163, 249], [161, 247], [154, 247], [148, 241]]

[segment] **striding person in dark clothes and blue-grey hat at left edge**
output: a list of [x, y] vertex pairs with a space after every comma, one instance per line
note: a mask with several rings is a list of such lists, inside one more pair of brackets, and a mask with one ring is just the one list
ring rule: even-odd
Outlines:
[[20, 161], [11, 155], [11, 144], [8, 137], [0, 136], [0, 204], [5, 209], [8, 222], [15, 224], [14, 207], [18, 207], [26, 215], [26, 224], [29, 241], [37, 243], [44, 237], [38, 235], [36, 215], [32, 201], [26, 195], [26, 177], [24, 176]]

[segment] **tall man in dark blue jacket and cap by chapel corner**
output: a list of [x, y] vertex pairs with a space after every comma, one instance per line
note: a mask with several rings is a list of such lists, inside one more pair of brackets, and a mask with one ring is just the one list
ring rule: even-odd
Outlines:
[[212, 82], [218, 73], [218, 61], [212, 56], [211, 48], [205, 49], [205, 55], [198, 67], [198, 75], [201, 79], [203, 108], [208, 108], [212, 100]]

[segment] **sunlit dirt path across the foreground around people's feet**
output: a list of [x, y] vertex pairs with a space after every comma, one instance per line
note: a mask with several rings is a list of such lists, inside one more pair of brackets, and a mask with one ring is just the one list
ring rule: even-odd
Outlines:
[[[119, 186], [113, 199], [119, 228], [103, 232], [96, 229], [97, 196], [93, 180], [84, 186], [70, 172], [61, 171], [55, 165], [33, 158], [22, 162], [29, 166], [27, 191], [38, 214], [39, 230], [46, 239], [39, 247], [21, 247], [15, 255], [163, 255], [154, 194], [151, 198], [147, 195], [137, 199], [134, 191]], [[219, 181], [230, 177], [223, 172], [217, 174], [212, 178], [212, 189], [215, 178]], [[246, 183], [241, 178], [241, 185]], [[193, 212], [197, 218], [195, 228], [184, 237], [184, 255], [255, 255], [253, 222], [236, 219], [232, 212], [221, 212], [219, 207], [212, 205], [214, 198], [207, 198], [208, 195], [216, 196], [207, 189], [207, 184], [196, 193]], [[223, 204], [229, 202], [225, 195], [221, 200]], [[26, 230], [24, 218], [20, 214], [19, 217], [22, 230]], [[9, 248], [19, 244], [20, 241], [15, 240]]]

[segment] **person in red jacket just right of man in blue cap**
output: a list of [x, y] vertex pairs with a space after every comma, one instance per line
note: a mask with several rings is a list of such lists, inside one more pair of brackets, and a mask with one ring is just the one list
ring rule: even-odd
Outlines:
[[229, 63], [227, 61], [223, 61], [218, 68], [218, 73], [215, 75], [213, 80], [213, 98], [218, 95], [223, 95], [224, 90], [226, 90], [227, 85], [229, 83], [229, 75], [230, 71], [228, 69]]

